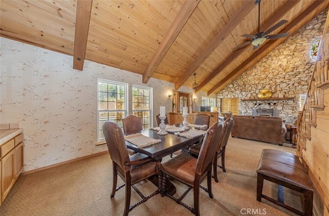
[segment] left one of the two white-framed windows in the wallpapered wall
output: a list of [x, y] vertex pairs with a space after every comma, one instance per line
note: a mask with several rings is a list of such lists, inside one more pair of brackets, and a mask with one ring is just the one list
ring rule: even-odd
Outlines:
[[105, 141], [103, 124], [113, 121], [122, 127], [122, 118], [127, 115], [126, 83], [98, 79], [98, 135], [97, 141]]

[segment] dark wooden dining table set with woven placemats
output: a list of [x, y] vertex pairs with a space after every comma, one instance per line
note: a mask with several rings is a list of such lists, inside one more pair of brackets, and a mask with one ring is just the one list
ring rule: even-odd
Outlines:
[[[174, 133], [168, 133], [166, 135], [158, 135], [158, 131], [151, 129], [135, 132], [134, 134], [136, 133], [141, 133], [144, 136], [161, 140], [158, 143], [155, 143], [151, 146], [147, 146], [144, 148], [138, 148], [137, 146], [133, 145], [131, 142], [125, 141], [128, 149], [148, 155], [149, 157], [154, 159], [157, 162], [157, 166], [156, 166], [157, 173], [159, 173], [161, 170], [161, 160], [163, 157], [170, 155], [180, 149], [188, 148], [194, 145], [194, 143], [197, 143], [198, 141], [204, 138], [204, 135], [199, 135], [193, 138], [186, 138], [179, 135], [175, 135]], [[125, 133], [124, 135], [131, 135], [131, 133], [130, 134]], [[157, 186], [159, 186], [160, 184], [157, 176], [151, 178], [150, 181]], [[170, 182], [169, 184], [167, 184], [167, 192], [171, 195], [176, 193], [176, 188], [172, 184], [170, 184]]]

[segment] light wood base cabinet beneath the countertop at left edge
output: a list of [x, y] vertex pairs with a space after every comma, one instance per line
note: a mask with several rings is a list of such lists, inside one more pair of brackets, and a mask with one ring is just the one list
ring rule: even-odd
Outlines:
[[1, 145], [1, 203], [23, 171], [23, 146], [23, 134], [19, 134]]

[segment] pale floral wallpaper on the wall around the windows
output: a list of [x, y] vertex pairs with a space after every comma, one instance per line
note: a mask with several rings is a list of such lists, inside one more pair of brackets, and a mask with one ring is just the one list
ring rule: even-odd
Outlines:
[[90, 61], [79, 71], [71, 56], [0, 40], [0, 122], [19, 122], [24, 130], [24, 171], [107, 150], [95, 145], [98, 78], [129, 83], [129, 91], [133, 83], [153, 87], [153, 115], [163, 105], [172, 111], [173, 83], [143, 84], [141, 75]]

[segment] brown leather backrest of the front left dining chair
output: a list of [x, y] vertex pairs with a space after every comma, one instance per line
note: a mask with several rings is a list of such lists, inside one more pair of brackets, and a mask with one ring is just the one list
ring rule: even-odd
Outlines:
[[121, 170], [128, 171], [130, 167], [124, 166], [124, 163], [130, 161], [130, 159], [122, 129], [117, 123], [106, 121], [103, 124], [103, 134], [111, 159], [121, 168]]

